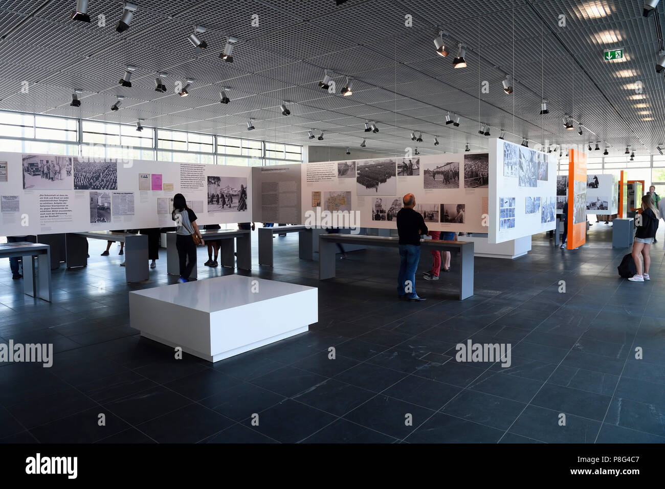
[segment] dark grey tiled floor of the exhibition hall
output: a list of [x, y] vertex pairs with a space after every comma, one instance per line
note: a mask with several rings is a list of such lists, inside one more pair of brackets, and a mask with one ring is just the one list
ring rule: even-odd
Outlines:
[[[665, 442], [663, 235], [652, 281], [630, 283], [616, 274], [627, 250], [612, 249], [610, 230], [593, 226], [577, 251], [538, 235], [525, 257], [476, 258], [463, 302], [455, 259], [439, 282], [418, 280], [427, 302], [404, 303], [394, 251], [350, 253], [319, 282], [297, 236], [275, 238], [274, 269], [257, 265], [254, 242], [253, 275], [319, 287], [319, 322], [214, 365], [175, 360], [130, 327], [128, 291], [174, 282], [164, 251], [148, 282], [128, 285], [118, 248], [100, 257], [91, 240], [88, 267], [54, 271], [50, 304], [23, 295], [0, 261], [0, 341], [56, 351], [51, 369], [0, 364], [0, 440]], [[420, 271], [428, 265], [423, 255]], [[228, 273], [199, 267], [201, 279]], [[511, 343], [511, 366], [456, 362], [467, 339]]]

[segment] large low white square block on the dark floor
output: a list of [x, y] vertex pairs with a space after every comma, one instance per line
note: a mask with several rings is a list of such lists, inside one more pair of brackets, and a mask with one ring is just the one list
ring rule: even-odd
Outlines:
[[216, 362], [303, 333], [319, 320], [318, 289], [227, 275], [129, 294], [141, 335]]

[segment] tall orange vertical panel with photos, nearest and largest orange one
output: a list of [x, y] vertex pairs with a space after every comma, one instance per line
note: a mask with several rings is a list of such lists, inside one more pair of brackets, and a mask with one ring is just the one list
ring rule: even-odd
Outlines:
[[568, 249], [587, 242], [587, 155], [569, 151]]

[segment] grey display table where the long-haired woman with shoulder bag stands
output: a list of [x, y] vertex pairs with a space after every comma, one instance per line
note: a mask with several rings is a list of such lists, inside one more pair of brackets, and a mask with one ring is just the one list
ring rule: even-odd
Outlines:
[[[203, 236], [203, 244], [205, 241], [221, 240], [219, 247], [219, 258], [221, 266], [235, 267], [235, 255], [233, 255], [234, 242], [237, 248], [237, 267], [241, 270], [251, 270], [251, 231], [249, 230], [235, 230], [235, 231], [201, 231]], [[176, 232], [171, 231], [166, 233], [166, 271], [169, 275], [180, 276], [180, 260], [178, 259], [178, 249], [176, 248]], [[190, 279], [196, 279], [198, 273], [196, 266], [192, 269]]]

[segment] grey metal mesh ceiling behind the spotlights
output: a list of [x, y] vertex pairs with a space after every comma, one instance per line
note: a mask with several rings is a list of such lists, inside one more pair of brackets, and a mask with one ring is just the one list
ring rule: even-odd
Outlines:
[[[114, 29], [122, 14], [116, 0], [89, 0], [90, 24], [69, 18], [76, 0], [1, 3], [0, 109], [128, 123], [142, 118], [146, 126], [292, 144], [357, 147], [367, 138], [367, 150], [385, 152], [416, 144], [410, 140], [416, 130], [423, 133], [423, 154], [467, 143], [486, 148], [487, 138], [477, 134], [481, 123], [491, 125], [492, 136], [506, 130], [514, 142], [600, 140], [613, 154], [627, 144], [653, 153], [665, 143], [665, 79], [654, 69], [664, 5], [660, 17], [644, 19], [641, 1], [612, 0], [136, 3], [124, 33]], [[195, 25], [207, 29], [199, 37], [208, 48], [198, 55], [186, 39]], [[450, 48], [445, 59], [434, 51], [439, 29]], [[240, 41], [234, 63], [218, 57], [228, 36]], [[453, 69], [460, 42], [468, 66]], [[604, 61], [603, 51], [612, 48], [624, 49], [626, 59]], [[118, 84], [126, 65], [137, 67], [132, 88]], [[336, 94], [317, 86], [325, 69]], [[158, 72], [168, 73], [164, 94], [154, 90]], [[511, 95], [501, 89], [506, 74], [515, 79]], [[339, 94], [346, 77], [354, 79], [348, 97]], [[194, 79], [190, 96], [180, 97], [174, 85], [187, 78]], [[636, 97], [638, 81], [644, 92]], [[223, 87], [228, 105], [219, 104]], [[84, 90], [80, 108], [69, 106], [74, 88]], [[112, 112], [120, 94], [126, 98]], [[546, 116], [539, 115], [543, 96]], [[289, 117], [279, 109], [284, 100], [291, 102]], [[446, 125], [448, 111], [460, 114], [460, 127]], [[583, 136], [565, 130], [564, 114], [585, 124]], [[378, 134], [363, 132], [367, 120], [377, 122]], [[311, 129], [325, 131], [325, 139], [309, 140]]]

